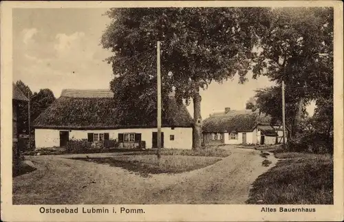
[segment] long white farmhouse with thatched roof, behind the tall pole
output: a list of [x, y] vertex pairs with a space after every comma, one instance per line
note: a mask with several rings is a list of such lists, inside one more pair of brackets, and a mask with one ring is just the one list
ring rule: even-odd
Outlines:
[[[173, 93], [162, 106], [162, 147], [191, 149], [189, 111], [176, 102]], [[144, 141], [145, 148], [157, 147], [156, 118], [123, 123], [110, 90], [64, 89], [34, 120], [33, 127], [36, 148], [65, 147], [70, 140], [116, 140], [126, 148], [136, 148]]]

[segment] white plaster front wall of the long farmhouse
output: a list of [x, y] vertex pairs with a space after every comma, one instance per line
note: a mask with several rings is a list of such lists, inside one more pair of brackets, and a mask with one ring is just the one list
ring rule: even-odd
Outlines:
[[[60, 130], [57, 129], [36, 129], [36, 148], [60, 146]], [[87, 130], [69, 131], [69, 140], [87, 139], [87, 133], [109, 133], [111, 140], [118, 140], [118, 133], [141, 133], [141, 140], [146, 142], [146, 148], [152, 147], [152, 133], [156, 129], [111, 129], [111, 130]], [[192, 148], [192, 128], [171, 129], [169, 127], [162, 128], [164, 133], [164, 148]], [[174, 135], [174, 140], [170, 140], [170, 135]]]

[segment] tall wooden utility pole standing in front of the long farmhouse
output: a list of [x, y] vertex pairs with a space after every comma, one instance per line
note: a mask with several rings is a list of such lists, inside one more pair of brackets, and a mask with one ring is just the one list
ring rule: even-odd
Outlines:
[[157, 116], [157, 124], [158, 124], [158, 135], [157, 135], [157, 157], [160, 159], [160, 148], [161, 148], [161, 75], [160, 75], [160, 41], [157, 42], [156, 45], [156, 52], [157, 52], [157, 79], [158, 79], [158, 116]]

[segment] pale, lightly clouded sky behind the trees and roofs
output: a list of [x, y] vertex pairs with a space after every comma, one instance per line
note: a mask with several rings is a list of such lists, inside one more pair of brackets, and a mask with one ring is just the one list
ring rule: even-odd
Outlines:
[[[14, 9], [13, 81], [22, 80], [32, 91], [51, 89], [58, 98], [62, 89], [109, 89], [114, 78], [104, 59], [111, 52], [100, 46], [110, 20], [106, 8]], [[250, 77], [251, 74], [248, 74]], [[266, 77], [244, 85], [238, 79], [211, 83], [201, 91], [202, 118], [225, 107], [245, 109], [255, 90], [274, 85]], [[193, 115], [193, 104], [188, 107]], [[308, 107], [312, 115], [314, 105]]]

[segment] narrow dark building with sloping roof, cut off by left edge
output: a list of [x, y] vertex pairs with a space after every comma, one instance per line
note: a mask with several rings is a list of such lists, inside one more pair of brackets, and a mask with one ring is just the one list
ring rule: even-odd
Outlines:
[[17, 131], [17, 115], [19, 102], [28, 102], [28, 98], [24, 96], [23, 92], [12, 83], [12, 166], [13, 170], [17, 170], [19, 164], [19, 146], [18, 146], [18, 131]]

